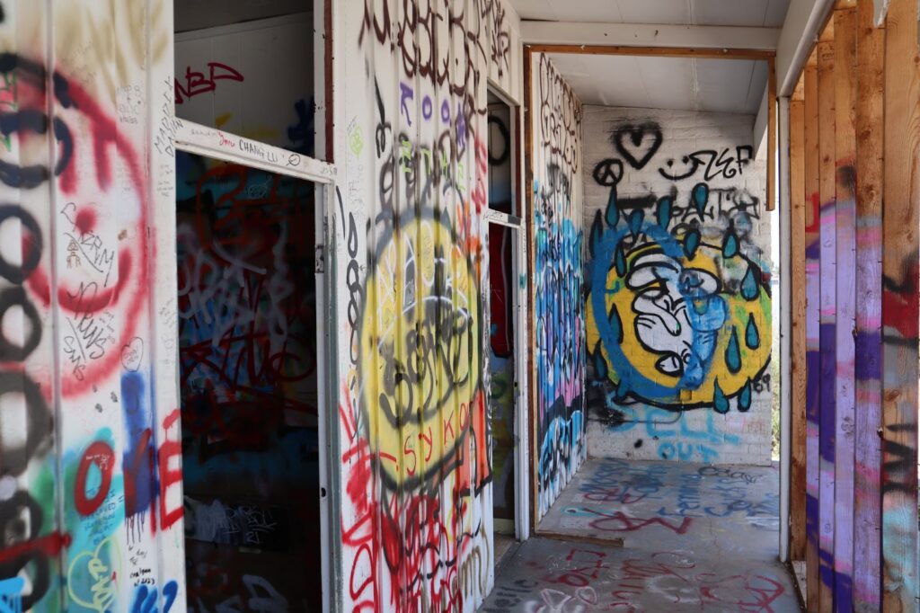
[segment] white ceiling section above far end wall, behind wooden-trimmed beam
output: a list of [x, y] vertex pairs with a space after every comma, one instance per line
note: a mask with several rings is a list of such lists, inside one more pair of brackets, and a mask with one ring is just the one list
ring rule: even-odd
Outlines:
[[766, 62], [551, 53], [583, 104], [756, 115]]

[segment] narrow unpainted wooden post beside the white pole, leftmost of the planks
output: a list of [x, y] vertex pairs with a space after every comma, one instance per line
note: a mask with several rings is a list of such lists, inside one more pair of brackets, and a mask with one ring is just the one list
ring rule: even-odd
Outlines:
[[789, 101], [789, 271], [791, 272], [791, 466], [789, 557], [805, 559], [805, 80]]

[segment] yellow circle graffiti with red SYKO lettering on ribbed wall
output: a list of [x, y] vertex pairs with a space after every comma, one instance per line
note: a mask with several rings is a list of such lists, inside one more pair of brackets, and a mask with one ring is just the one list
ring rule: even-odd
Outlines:
[[474, 420], [482, 343], [477, 279], [450, 228], [413, 219], [378, 250], [364, 300], [367, 439], [385, 480], [413, 487], [452, 468]]

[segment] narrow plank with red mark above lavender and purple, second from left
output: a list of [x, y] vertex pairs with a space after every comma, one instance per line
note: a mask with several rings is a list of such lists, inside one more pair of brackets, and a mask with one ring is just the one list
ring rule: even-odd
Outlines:
[[805, 568], [808, 581], [808, 610], [818, 610], [818, 524], [820, 498], [820, 453], [818, 419], [821, 415], [821, 345], [820, 345], [820, 210], [821, 181], [818, 168], [821, 152], [818, 147], [818, 52], [811, 52], [805, 65], [805, 364], [808, 381], [805, 389], [806, 433], [805, 477]]

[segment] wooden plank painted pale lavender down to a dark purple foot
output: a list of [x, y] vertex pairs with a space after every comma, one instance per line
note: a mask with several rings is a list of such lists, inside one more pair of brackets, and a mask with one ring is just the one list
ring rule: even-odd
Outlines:
[[[853, 610], [853, 460], [856, 423], [857, 10], [834, 10], [834, 607]], [[833, 231], [833, 230], [832, 230]]]

